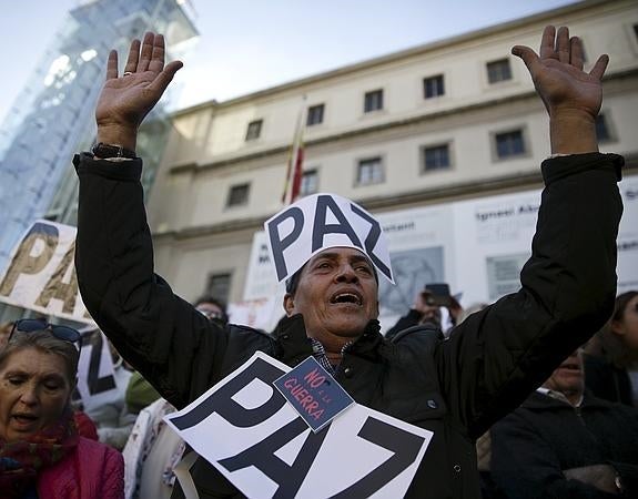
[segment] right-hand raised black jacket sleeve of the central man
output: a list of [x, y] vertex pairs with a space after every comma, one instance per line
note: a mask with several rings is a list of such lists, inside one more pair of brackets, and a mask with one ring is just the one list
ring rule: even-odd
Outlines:
[[545, 161], [521, 289], [470, 315], [437, 347], [443, 393], [469, 438], [516, 408], [611, 315], [622, 163], [599, 153]]

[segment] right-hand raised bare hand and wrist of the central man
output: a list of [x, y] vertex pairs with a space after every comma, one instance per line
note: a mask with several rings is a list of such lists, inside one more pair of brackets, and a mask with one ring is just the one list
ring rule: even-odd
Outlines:
[[[543, 31], [539, 55], [524, 45], [514, 47], [512, 53], [525, 62], [549, 113], [553, 152], [597, 151], [594, 123], [602, 102], [601, 79], [609, 58], [600, 55], [589, 73], [583, 71], [583, 42], [578, 37], [569, 38], [567, 28], [556, 32], [553, 26]], [[571, 133], [581, 136], [569, 141]]]

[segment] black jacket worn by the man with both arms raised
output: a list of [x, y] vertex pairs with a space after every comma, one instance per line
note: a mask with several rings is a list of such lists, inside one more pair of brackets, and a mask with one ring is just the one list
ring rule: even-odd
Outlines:
[[[372, 322], [345, 354], [336, 378], [357, 403], [434, 431], [409, 497], [479, 497], [475, 439], [611, 314], [621, 164], [598, 153], [544, 163], [547, 187], [520, 292], [474, 314], [447, 340], [417, 329], [389, 343]], [[120, 354], [171, 404], [184, 407], [255, 350], [290, 366], [312, 355], [302, 317], [272, 337], [220, 328], [153, 274], [141, 161], [83, 154], [75, 165], [82, 298]], [[202, 498], [236, 493], [202, 459], [191, 471]]]

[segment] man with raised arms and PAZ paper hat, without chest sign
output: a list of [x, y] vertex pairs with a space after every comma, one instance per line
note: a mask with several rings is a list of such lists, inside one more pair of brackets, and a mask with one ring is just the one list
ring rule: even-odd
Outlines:
[[[407, 497], [478, 498], [475, 439], [610, 315], [622, 211], [616, 185], [622, 157], [599, 153], [595, 131], [608, 58], [584, 72], [581, 41], [567, 28], [554, 27], [545, 29], [539, 55], [520, 45], [513, 53], [527, 65], [547, 109], [556, 156], [541, 166], [546, 187], [521, 289], [465, 319], [448, 339], [431, 332], [391, 343], [376, 320], [377, 278], [393, 279], [381, 226], [361, 206], [335, 195], [305, 197], [266, 223], [277, 278], [288, 282], [288, 318], [272, 336], [211, 323], [153, 274], [135, 141], [143, 118], [182, 64], [164, 64], [160, 34], [131, 43], [123, 74], [111, 52], [95, 111], [100, 143], [92, 154], [74, 159], [80, 177], [75, 266], [91, 315], [178, 408], [256, 352], [287, 366], [315, 357], [357, 404], [434, 432]], [[227, 414], [241, 416], [231, 421], [235, 427], [260, 420], [257, 409], [244, 409]], [[264, 436], [264, 442], [272, 447], [275, 437]], [[382, 487], [389, 469], [401, 472], [405, 466], [391, 450], [394, 438], [384, 440], [376, 430], [353, 438], [388, 446], [387, 462], [364, 476], [364, 486]], [[310, 440], [310, 447], [317, 444]], [[270, 480], [282, 487], [291, 478], [302, 481], [298, 459], [291, 464], [275, 456], [275, 447], [259, 449], [245, 461], [231, 459], [240, 472], [254, 459], [259, 466], [266, 462], [260, 469], [270, 467]], [[362, 461], [366, 457], [362, 454]], [[312, 467], [312, 459], [303, 465]], [[355, 465], [332, 472], [361, 471]], [[200, 497], [236, 497], [237, 489], [217, 469], [203, 459], [190, 468]]]

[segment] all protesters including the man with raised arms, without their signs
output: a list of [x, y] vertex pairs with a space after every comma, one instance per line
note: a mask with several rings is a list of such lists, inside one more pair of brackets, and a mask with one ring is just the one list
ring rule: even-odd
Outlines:
[[[539, 54], [513, 53], [547, 108], [553, 153], [520, 291], [464, 310], [424, 289], [382, 332], [378, 258], [331, 244], [287, 276], [286, 316], [265, 334], [229, 324], [214, 297], [189, 304], [153, 274], [136, 130], [181, 63], [164, 63], [153, 33], [131, 43], [123, 74], [111, 52], [99, 145], [74, 160], [75, 268], [111, 343], [117, 390], [88, 413], [73, 405], [73, 328], [0, 329], [2, 497], [185, 497], [174, 470], [189, 449], [163, 417], [255, 352], [288, 366], [314, 357], [356, 403], [433, 431], [406, 497], [636, 497], [638, 293], [616, 297], [622, 159], [599, 153], [595, 132], [607, 58], [584, 72], [581, 41], [554, 27]], [[202, 458], [190, 475], [201, 498], [241, 496]]]

